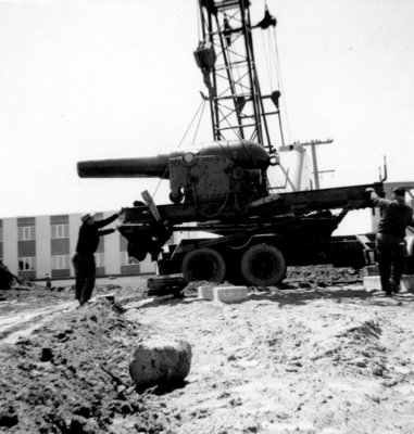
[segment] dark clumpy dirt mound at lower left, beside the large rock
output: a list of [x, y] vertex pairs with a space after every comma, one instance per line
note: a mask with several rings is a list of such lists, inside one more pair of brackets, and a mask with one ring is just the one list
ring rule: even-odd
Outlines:
[[131, 346], [147, 335], [101, 299], [3, 345], [0, 431], [108, 433], [114, 418], [138, 413], [136, 423], [160, 432], [146, 395], [135, 392], [127, 375]]

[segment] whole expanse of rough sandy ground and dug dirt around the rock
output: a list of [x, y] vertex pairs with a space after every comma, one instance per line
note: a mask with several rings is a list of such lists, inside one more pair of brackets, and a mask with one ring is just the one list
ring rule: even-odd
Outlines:
[[[146, 279], [100, 284], [81, 309], [66, 290], [2, 302], [0, 432], [414, 433], [411, 293], [284, 285], [229, 305], [145, 298]], [[139, 395], [129, 357], [154, 335], [188, 341], [191, 371]]]

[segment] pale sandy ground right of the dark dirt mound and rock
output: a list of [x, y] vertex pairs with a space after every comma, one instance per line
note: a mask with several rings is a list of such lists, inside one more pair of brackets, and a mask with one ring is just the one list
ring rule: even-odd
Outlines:
[[170, 298], [129, 309], [188, 341], [188, 382], [159, 397], [171, 433], [413, 433], [413, 294], [250, 289], [243, 303]]

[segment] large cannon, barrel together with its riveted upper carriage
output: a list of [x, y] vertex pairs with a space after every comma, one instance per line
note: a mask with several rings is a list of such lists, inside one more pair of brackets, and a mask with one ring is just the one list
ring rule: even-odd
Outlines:
[[233, 196], [241, 205], [266, 195], [266, 169], [276, 163], [258, 143], [231, 140], [158, 156], [79, 162], [77, 173], [81, 178], [170, 179], [173, 203]]

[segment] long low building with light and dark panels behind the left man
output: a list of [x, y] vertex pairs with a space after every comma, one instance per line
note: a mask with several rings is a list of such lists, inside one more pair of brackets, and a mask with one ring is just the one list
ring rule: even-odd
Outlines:
[[[97, 213], [97, 219], [115, 212]], [[26, 280], [73, 278], [80, 214], [0, 219], [0, 258], [11, 272]], [[116, 221], [106, 228], [114, 227]], [[97, 276], [155, 272], [149, 255], [141, 263], [128, 258], [127, 241], [118, 232], [102, 237], [96, 253]]]

